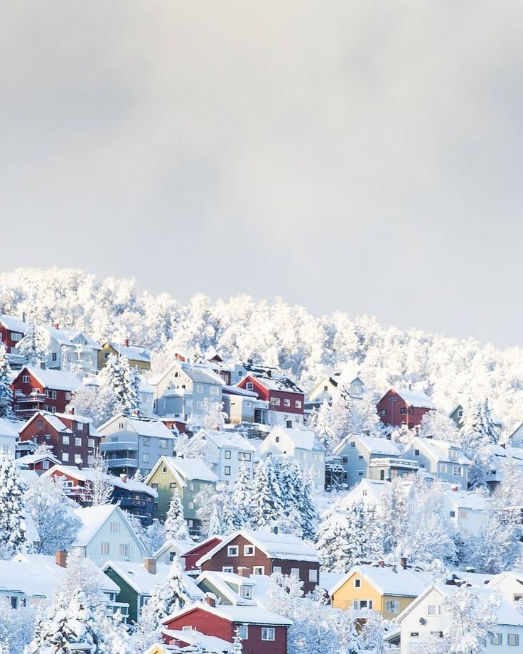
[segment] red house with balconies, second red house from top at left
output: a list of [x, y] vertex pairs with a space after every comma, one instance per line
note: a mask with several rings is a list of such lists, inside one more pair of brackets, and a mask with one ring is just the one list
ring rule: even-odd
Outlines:
[[82, 382], [72, 372], [24, 366], [11, 382], [16, 416], [27, 418], [37, 411], [62, 413], [71, 393]]

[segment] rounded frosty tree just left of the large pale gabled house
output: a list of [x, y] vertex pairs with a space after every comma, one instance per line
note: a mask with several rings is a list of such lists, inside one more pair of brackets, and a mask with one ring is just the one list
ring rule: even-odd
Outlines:
[[40, 477], [29, 486], [25, 500], [40, 536], [38, 552], [67, 552], [82, 523], [72, 513], [77, 504], [65, 495], [63, 483], [53, 477]]

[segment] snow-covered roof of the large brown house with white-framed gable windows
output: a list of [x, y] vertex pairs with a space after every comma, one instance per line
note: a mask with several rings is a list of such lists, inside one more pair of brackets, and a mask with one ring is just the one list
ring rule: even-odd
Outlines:
[[200, 566], [203, 562], [212, 559], [222, 547], [225, 547], [227, 543], [231, 542], [237, 536], [243, 536], [271, 559], [309, 561], [313, 563], [318, 563], [320, 560], [318, 552], [311, 545], [298, 538], [298, 536], [242, 529], [227, 536], [216, 547], [198, 559], [196, 565]]

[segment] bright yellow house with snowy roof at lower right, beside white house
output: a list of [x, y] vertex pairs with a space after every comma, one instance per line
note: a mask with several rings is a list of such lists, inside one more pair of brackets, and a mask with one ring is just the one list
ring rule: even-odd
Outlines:
[[393, 620], [427, 586], [432, 579], [416, 568], [402, 564], [362, 563], [350, 569], [329, 591], [334, 609], [372, 609], [387, 620]]

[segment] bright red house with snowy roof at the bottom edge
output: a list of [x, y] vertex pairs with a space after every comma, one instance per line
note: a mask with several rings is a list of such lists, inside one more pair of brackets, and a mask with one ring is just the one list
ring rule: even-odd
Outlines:
[[232, 643], [238, 631], [243, 654], [287, 654], [287, 629], [292, 622], [259, 606], [215, 605], [213, 596], [205, 603], [186, 606], [163, 620], [163, 640], [182, 645], [180, 631], [199, 631]]

